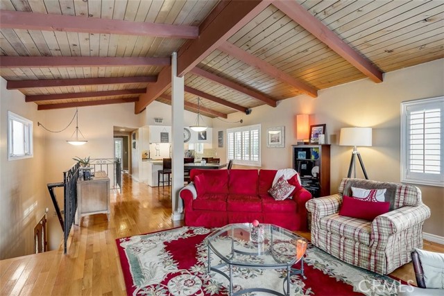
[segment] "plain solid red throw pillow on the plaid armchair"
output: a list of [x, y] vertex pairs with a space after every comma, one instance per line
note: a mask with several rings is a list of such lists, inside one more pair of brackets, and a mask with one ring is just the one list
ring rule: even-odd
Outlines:
[[372, 221], [377, 216], [388, 213], [388, 209], [390, 209], [390, 202], [369, 202], [343, 195], [339, 216]]

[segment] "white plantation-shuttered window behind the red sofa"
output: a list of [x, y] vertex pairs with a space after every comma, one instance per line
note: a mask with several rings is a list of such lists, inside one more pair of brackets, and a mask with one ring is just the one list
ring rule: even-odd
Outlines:
[[227, 158], [234, 164], [261, 166], [261, 125], [227, 130]]

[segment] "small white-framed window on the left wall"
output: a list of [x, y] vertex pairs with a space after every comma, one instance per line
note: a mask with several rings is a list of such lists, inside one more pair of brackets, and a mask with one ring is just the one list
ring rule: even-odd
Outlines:
[[8, 159], [33, 157], [33, 122], [8, 111]]

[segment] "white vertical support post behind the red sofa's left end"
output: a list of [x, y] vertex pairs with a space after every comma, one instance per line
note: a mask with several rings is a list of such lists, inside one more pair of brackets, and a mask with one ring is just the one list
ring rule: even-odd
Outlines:
[[177, 53], [171, 55], [171, 162], [173, 182], [171, 183], [171, 202], [173, 221], [182, 220], [183, 214], [179, 213], [179, 191], [184, 183], [184, 76], [178, 77]]

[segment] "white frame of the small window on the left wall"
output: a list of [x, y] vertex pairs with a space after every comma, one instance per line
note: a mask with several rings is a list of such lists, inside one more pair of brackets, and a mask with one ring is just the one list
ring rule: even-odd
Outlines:
[[[15, 155], [12, 150], [14, 145], [14, 130], [12, 128], [12, 123], [14, 121], [18, 121], [24, 125], [24, 154], [21, 155]], [[31, 157], [33, 157], [33, 121], [17, 115], [14, 112], [8, 111], [8, 160], [25, 159]]]

